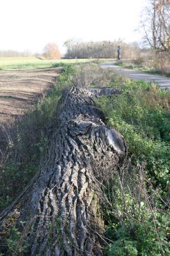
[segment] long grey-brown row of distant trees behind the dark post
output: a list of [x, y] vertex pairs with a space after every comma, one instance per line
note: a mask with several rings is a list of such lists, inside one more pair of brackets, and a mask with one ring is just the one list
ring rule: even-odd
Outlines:
[[121, 58], [135, 58], [139, 54], [137, 43], [127, 44], [122, 40], [102, 42], [65, 42], [65, 58], [117, 58], [117, 47], [121, 46]]

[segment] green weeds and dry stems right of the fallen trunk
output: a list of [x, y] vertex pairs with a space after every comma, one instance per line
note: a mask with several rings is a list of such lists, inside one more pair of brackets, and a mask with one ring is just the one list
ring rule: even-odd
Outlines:
[[130, 161], [105, 192], [108, 255], [169, 255], [169, 92], [132, 83], [98, 100], [107, 122], [123, 134]]

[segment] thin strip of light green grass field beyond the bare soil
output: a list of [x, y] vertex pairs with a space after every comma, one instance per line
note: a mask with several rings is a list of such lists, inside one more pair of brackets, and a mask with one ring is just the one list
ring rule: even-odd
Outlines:
[[50, 68], [70, 63], [84, 63], [93, 59], [73, 60], [40, 60], [35, 57], [0, 57], [0, 70], [20, 70], [33, 68]]

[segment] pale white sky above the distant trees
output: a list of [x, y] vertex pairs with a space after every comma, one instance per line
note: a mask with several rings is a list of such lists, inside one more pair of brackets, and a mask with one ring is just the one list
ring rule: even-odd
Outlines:
[[41, 52], [49, 42], [140, 42], [135, 32], [146, 0], [0, 0], [0, 50]]

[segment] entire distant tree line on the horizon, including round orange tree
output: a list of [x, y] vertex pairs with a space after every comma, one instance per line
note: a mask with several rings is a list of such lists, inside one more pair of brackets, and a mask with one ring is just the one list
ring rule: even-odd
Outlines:
[[[118, 45], [121, 47], [121, 58], [137, 58], [141, 49], [139, 45], [134, 42], [127, 44], [123, 40], [102, 41], [102, 42], [80, 42], [77, 40], [67, 40], [65, 42], [66, 54], [65, 58], [117, 58]], [[60, 59], [58, 45], [49, 43], [43, 48], [42, 54], [31, 53], [29, 51], [0, 51], [0, 57], [21, 57], [21, 56], [35, 56], [36, 58], [45, 59]]]

